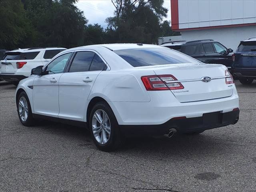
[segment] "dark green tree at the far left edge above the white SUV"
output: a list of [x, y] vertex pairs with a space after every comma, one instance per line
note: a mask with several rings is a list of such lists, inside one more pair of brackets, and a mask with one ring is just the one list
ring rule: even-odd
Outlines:
[[8, 50], [24, 47], [26, 38], [35, 36], [20, 0], [0, 1], [0, 29], [0, 48]]

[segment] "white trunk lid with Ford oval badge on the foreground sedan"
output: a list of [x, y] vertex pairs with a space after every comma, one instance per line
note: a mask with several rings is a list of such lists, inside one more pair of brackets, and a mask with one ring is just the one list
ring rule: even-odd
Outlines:
[[180, 82], [184, 86], [171, 90], [179, 102], [218, 99], [233, 93], [232, 84], [226, 84], [226, 67], [220, 64], [172, 64], [153, 70], [156, 75], [171, 74], [177, 79], [165, 83]]

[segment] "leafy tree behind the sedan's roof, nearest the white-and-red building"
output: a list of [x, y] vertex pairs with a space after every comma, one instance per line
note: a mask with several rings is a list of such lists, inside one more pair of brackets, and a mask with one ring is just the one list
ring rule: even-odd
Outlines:
[[114, 17], [106, 19], [107, 36], [115, 33], [116, 42], [156, 43], [160, 21], [166, 17], [163, 0], [112, 0]]

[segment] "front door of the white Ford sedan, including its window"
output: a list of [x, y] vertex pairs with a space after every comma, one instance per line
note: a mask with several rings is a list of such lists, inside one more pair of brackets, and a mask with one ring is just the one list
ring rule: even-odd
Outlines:
[[58, 117], [59, 114], [59, 86], [62, 76], [72, 52], [62, 54], [50, 62], [44, 69], [44, 75], [36, 76], [33, 82], [34, 113]]

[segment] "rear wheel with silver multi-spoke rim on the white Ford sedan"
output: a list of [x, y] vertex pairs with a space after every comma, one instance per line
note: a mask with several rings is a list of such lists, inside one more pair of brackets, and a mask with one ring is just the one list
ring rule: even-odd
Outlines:
[[94, 144], [102, 151], [116, 150], [124, 141], [116, 117], [106, 102], [94, 105], [90, 113], [89, 126]]

